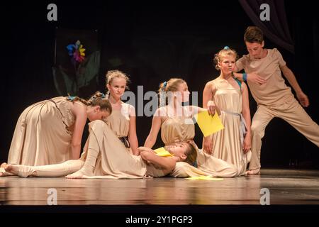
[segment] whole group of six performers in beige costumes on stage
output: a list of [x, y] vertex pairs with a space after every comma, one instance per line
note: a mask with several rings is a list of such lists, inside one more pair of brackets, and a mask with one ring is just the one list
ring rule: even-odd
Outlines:
[[[260, 150], [267, 124], [274, 117], [287, 121], [319, 147], [319, 126], [302, 106], [309, 101], [279, 50], [264, 48], [262, 31], [248, 27], [244, 35], [249, 54], [237, 60], [227, 46], [216, 53], [220, 75], [203, 90], [203, 108], [183, 106], [189, 101], [184, 79], [172, 78], [159, 86], [159, 108], [144, 146], [138, 146], [135, 109], [121, 101], [128, 76], [106, 74], [107, 94], [89, 100], [55, 97], [29, 106], [18, 118], [8, 162], [0, 176], [128, 179], [140, 177], [236, 177], [260, 172]], [[243, 73], [238, 73], [245, 70]], [[295, 99], [288, 80], [296, 92]], [[249, 92], [257, 102], [252, 121]], [[302, 106], [301, 106], [302, 105]], [[194, 143], [195, 114], [218, 114], [224, 129]], [[82, 134], [89, 119], [89, 136], [80, 155]], [[152, 150], [161, 131], [162, 157]], [[248, 167], [248, 163], [250, 163]]]

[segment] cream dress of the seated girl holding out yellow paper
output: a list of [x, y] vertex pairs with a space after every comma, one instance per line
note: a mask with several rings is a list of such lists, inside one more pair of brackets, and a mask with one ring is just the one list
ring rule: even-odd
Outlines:
[[[186, 111], [185, 111], [186, 112]], [[162, 141], [167, 145], [193, 140], [195, 126], [191, 116], [167, 117], [161, 126]], [[186, 162], [177, 162], [172, 177], [196, 177], [198, 175], [211, 175], [213, 177], [235, 177], [241, 170], [235, 165], [220, 160], [212, 155], [207, 155], [203, 150], [197, 150], [197, 168]]]

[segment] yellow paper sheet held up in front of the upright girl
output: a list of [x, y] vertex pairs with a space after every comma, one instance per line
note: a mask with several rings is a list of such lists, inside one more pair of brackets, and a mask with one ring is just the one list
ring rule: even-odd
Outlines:
[[224, 128], [217, 112], [214, 116], [211, 116], [208, 114], [208, 111], [203, 111], [199, 114], [196, 114], [195, 119], [205, 137], [216, 133]]

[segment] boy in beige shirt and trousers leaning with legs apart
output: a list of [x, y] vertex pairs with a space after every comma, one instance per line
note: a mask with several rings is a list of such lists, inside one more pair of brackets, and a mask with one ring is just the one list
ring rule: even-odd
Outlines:
[[[262, 31], [257, 27], [248, 27], [244, 35], [249, 52], [236, 62], [235, 72], [245, 70], [244, 74], [235, 74], [239, 79], [247, 80], [250, 92], [257, 102], [257, 111], [252, 118], [252, 160], [248, 175], [259, 174], [260, 150], [266, 126], [272, 118], [279, 117], [306, 136], [319, 147], [319, 126], [306, 113], [302, 106], [309, 106], [309, 100], [303, 93], [293, 72], [279, 50], [264, 48]], [[291, 88], [286, 86], [281, 72], [296, 92], [294, 98]], [[247, 75], [247, 74], [248, 75]]]

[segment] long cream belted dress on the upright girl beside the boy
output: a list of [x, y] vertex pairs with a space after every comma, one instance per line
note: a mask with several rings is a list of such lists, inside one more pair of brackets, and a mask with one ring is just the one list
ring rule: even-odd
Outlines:
[[241, 170], [240, 175], [244, 175], [245, 168], [242, 167], [247, 165], [247, 158], [242, 151], [240, 138], [242, 92], [239, 86], [234, 88], [225, 79], [219, 77], [213, 80], [213, 84], [216, 87], [213, 101], [220, 109], [220, 120], [225, 128], [211, 136], [212, 155], [232, 163], [238, 170]]

